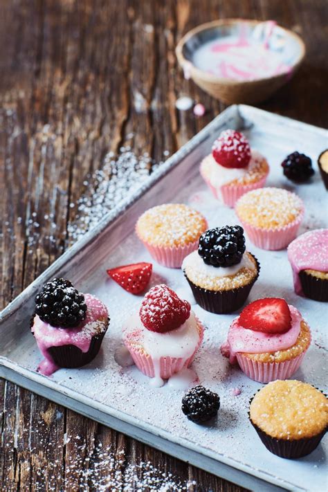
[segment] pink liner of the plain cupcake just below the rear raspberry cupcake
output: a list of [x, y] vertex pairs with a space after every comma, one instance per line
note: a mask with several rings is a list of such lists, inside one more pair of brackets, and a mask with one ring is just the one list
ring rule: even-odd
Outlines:
[[238, 214], [237, 216], [239, 221], [241, 221], [248, 238], [255, 246], [257, 246], [257, 248], [280, 250], [286, 248], [289, 243], [295, 239], [304, 216], [304, 208], [300, 211], [300, 215], [298, 215], [297, 219], [291, 222], [291, 224], [277, 229], [262, 229], [250, 226], [250, 224], [243, 221]]

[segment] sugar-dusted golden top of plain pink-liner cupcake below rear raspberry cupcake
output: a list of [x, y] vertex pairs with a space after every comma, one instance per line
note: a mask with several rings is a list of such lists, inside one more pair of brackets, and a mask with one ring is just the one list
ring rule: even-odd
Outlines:
[[260, 188], [244, 194], [235, 207], [250, 226], [278, 229], [293, 223], [303, 212], [302, 200], [282, 188]]

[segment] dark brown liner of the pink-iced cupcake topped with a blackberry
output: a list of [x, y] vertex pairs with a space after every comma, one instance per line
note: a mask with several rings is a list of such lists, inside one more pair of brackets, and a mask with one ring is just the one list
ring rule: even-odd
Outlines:
[[53, 358], [54, 363], [60, 367], [67, 367], [68, 369], [82, 367], [82, 365], [89, 364], [89, 362], [91, 362], [98, 354], [106, 331], [107, 329], [91, 338], [88, 352], [82, 352], [82, 350], [75, 347], [75, 345], [50, 347], [48, 352]]

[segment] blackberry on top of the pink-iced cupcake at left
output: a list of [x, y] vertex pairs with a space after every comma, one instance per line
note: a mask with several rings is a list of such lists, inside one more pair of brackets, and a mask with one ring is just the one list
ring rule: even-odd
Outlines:
[[84, 295], [69, 280], [54, 278], [35, 297], [35, 313], [53, 327], [73, 328], [86, 316]]

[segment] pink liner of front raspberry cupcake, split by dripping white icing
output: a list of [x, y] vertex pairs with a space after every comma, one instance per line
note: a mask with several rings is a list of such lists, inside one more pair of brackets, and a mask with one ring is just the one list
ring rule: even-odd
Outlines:
[[[201, 343], [203, 341], [203, 325], [201, 325], [201, 322], [197, 320], [197, 325], [199, 327], [199, 343], [194, 350], [194, 353], [192, 356], [185, 358], [185, 357], [161, 357], [159, 360], [159, 365], [160, 365], [160, 376], [162, 379], [169, 379], [173, 374], [176, 372], [180, 372], [183, 370], [185, 367], [189, 367], [194, 360], [194, 356], [201, 346]], [[151, 355], [147, 354], [143, 349], [140, 349], [140, 347], [136, 347], [133, 344], [129, 343], [128, 340], [125, 340], [125, 345], [127, 346], [127, 349], [129, 350], [131, 357], [134, 360], [134, 363], [138, 367], [138, 370], [140, 370], [145, 376], [148, 376], [149, 378], [154, 378], [155, 376], [155, 370], [154, 370], [154, 361]]]

